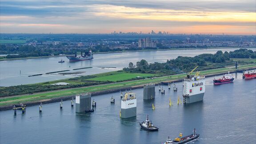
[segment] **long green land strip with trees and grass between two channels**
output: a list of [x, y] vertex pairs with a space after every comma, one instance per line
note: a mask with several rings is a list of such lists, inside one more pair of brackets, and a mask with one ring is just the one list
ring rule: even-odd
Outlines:
[[[180, 81], [196, 66], [199, 66], [196, 70], [205, 76], [214, 76], [228, 71], [236, 72], [236, 61], [239, 63], [239, 70], [256, 68], [256, 52], [247, 49], [224, 53], [218, 51], [216, 54], [201, 54], [194, 57], [178, 56], [165, 63], [151, 64], [146, 60], [140, 60], [136, 64], [130, 62], [128, 68], [115, 72], [4, 87], [0, 88], [0, 108], [6, 106], [10, 108], [12, 104], [19, 103], [51, 102], [75, 96], [80, 92], [92, 92], [93, 95], [97, 95], [117, 92], [125, 88], [141, 88], [146, 83]], [[67, 85], [56, 85], [56, 83], [67, 83]]]

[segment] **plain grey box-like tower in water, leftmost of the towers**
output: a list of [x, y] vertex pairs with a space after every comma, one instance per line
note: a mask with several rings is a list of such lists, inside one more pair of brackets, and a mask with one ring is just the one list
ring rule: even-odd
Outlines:
[[93, 112], [91, 104], [91, 93], [80, 93], [76, 95], [76, 112]]

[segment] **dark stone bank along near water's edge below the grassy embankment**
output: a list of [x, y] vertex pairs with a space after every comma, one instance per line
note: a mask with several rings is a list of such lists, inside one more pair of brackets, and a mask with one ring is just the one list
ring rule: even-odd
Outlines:
[[[248, 69], [255, 69], [254, 68], [243, 68], [240, 70], [232, 70], [230, 71], [230, 73], [236, 73], [236, 72], [242, 72], [243, 70]], [[223, 75], [225, 72], [214, 72], [212, 74], [207, 74], [205, 75], [205, 77], [212, 77], [212, 76], [220, 76]], [[160, 82], [156, 82], [155, 85], [157, 84], [167, 84], [168, 82], [182, 82], [183, 79], [180, 78], [176, 78], [174, 80], [165, 80], [165, 81], [160, 81]], [[98, 96], [98, 95], [102, 95], [102, 94], [108, 94], [108, 93], [113, 93], [113, 92], [119, 92], [119, 91], [124, 91], [126, 89], [138, 89], [138, 88], [143, 88], [143, 84], [139, 84], [139, 85], [134, 85], [134, 86], [124, 86], [124, 87], [120, 87], [120, 88], [112, 88], [112, 89], [107, 89], [107, 90], [102, 90], [102, 91], [95, 91], [95, 92], [90, 92], [92, 93], [92, 96]], [[13, 96], [15, 97], [15, 96]], [[48, 103], [54, 103], [54, 102], [58, 102], [60, 100], [71, 100], [72, 97], [75, 97], [75, 95], [67, 95], [67, 96], [60, 96], [60, 97], [54, 97], [51, 99], [43, 99], [43, 100], [36, 100], [36, 101], [31, 101], [31, 102], [24, 102], [23, 104], [25, 104], [26, 106], [33, 106], [33, 105], [37, 105], [37, 104], [48, 104]], [[4, 111], [4, 110], [9, 110], [12, 109], [12, 104], [8, 104], [5, 106], [0, 106], [0, 111]]]

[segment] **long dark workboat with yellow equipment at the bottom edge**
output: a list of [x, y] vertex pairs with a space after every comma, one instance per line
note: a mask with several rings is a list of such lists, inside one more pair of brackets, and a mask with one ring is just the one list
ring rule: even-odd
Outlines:
[[175, 138], [174, 140], [168, 139], [164, 144], [185, 144], [188, 142], [191, 142], [193, 140], [196, 140], [200, 135], [196, 133], [196, 128], [194, 129], [194, 133], [188, 136], [182, 137], [182, 133], [180, 133], [180, 137]]

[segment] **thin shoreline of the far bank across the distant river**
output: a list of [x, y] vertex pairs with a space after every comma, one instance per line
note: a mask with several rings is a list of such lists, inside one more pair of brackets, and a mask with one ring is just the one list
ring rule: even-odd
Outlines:
[[[105, 54], [105, 53], [123, 53], [123, 52], [149, 52], [149, 51], [173, 51], [173, 50], [190, 50], [190, 49], [221, 49], [221, 48], [244, 48], [244, 47], [216, 47], [216, 48], [170, 48], [170, 49], [145, 49], [145, 50], [137, 50], [137, 51], [117, 51], [117, 52], [96, 52], [96, 54]], [[0, 59], [0, 61], [5, 60], [26, 60], [26, 59], [39, 59], [39, 58], [49, 58], [49, 57], [61, 57], [61, 56], [73, 56], [73, 55], [60, 55], [60, 56], [36, 56], [36, 57], [21, 57], [21, 58], [13, 58], [13, 59]]]

